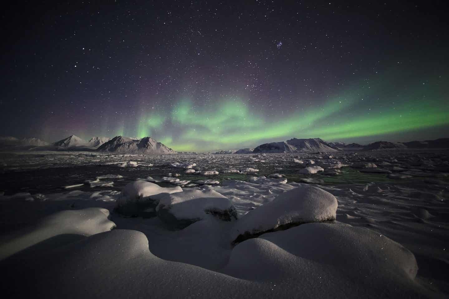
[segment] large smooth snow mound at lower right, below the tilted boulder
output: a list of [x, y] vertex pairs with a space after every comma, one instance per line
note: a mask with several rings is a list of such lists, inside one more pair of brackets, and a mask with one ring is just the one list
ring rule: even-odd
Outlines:
[[332, 283], [339, 285], [331, 282], [334, 279], [348, 279], [353, 282], [351, 286], [340, 286], [352, 290], [351, 294], [363, 292], [354, 288], [363, 286], [370, 292], [379, 288], [375, 293], [385, 297], [386, 289], [410, 288], [417, 270], [414, 255], [383, 234], [350, 225], [308, 223], [238, 244], [224, 273], [259, 282], [319, 277], [320, 288], [321, 282], [322, 287], [330, 288]]

